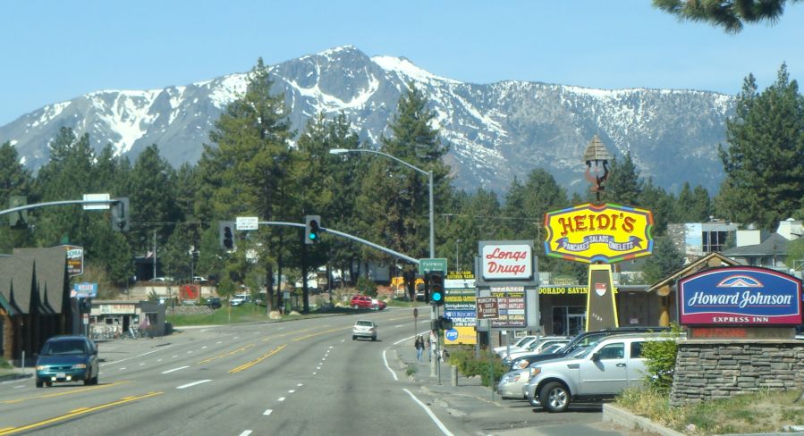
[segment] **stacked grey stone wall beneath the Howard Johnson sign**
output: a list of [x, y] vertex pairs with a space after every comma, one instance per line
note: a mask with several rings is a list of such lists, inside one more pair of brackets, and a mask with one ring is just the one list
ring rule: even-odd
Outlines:
[[804, 341], [681, 340], [670, 404], [804, 387]]

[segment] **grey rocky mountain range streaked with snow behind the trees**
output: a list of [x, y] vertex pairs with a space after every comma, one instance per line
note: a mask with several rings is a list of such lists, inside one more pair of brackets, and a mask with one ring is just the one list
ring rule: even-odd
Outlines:
[[[318, 112], [345, 113], [360, 137], [377, 143], [411, 80], [436, 113], [451, 146], [455, 185], [502, 192], [514, 176], [546, 168], [571, 191], [586, 189], [581, 156], [598, 134], [613, 155], [631, 150], [643, 177], [676, 190], [684, 181], [714, 193], [723, 178], [717, 145], [735, 98], [694, 90], [603, 90], [524, 81], [471, 84], [436, 76], [402, 57], [369, 57], [342, 46], [270, 67], [293, 128]], [[157, 144], [178, 166], [195, 164], [225, 105], [245, 90], [247, 73], [146, 91], [104, 90], [47, 105], [0, 127], [36, 170], [61, 127], [89, 133], [133, 159]]]

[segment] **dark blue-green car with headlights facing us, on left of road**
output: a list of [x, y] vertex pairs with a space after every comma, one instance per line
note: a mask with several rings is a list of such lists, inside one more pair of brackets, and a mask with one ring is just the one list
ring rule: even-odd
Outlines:
[[97, 384], [97, 346], [83, 336], [55, 336], [37, 357], [37, 388], [55, 382]]

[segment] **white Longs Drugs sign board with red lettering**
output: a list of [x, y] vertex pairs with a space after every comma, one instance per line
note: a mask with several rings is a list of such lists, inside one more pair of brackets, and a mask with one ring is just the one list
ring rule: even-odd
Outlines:
[[522, 280], [533, 277], [533, 252], [526, 244], [487, 244], [480, 253], [485, 280]]

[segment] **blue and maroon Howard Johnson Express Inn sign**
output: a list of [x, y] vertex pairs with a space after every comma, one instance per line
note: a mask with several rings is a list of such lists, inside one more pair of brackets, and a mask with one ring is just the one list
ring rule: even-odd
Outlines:
[[801, 323], [801, 281], [766, 268], [729, 266], [679, 281], [681, 324]]

